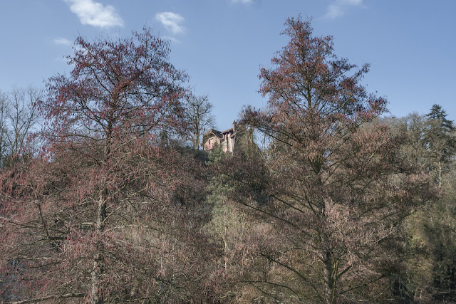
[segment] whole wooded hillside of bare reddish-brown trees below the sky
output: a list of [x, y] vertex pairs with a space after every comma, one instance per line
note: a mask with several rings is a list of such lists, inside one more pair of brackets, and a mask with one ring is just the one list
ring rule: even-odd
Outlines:
[[455, 125], [388, 117], [311, 21], [283, 34], [233, 153], [199, 150], [212, 104], [150, 28], [1, 93], [1, 302], [456, 301]]

